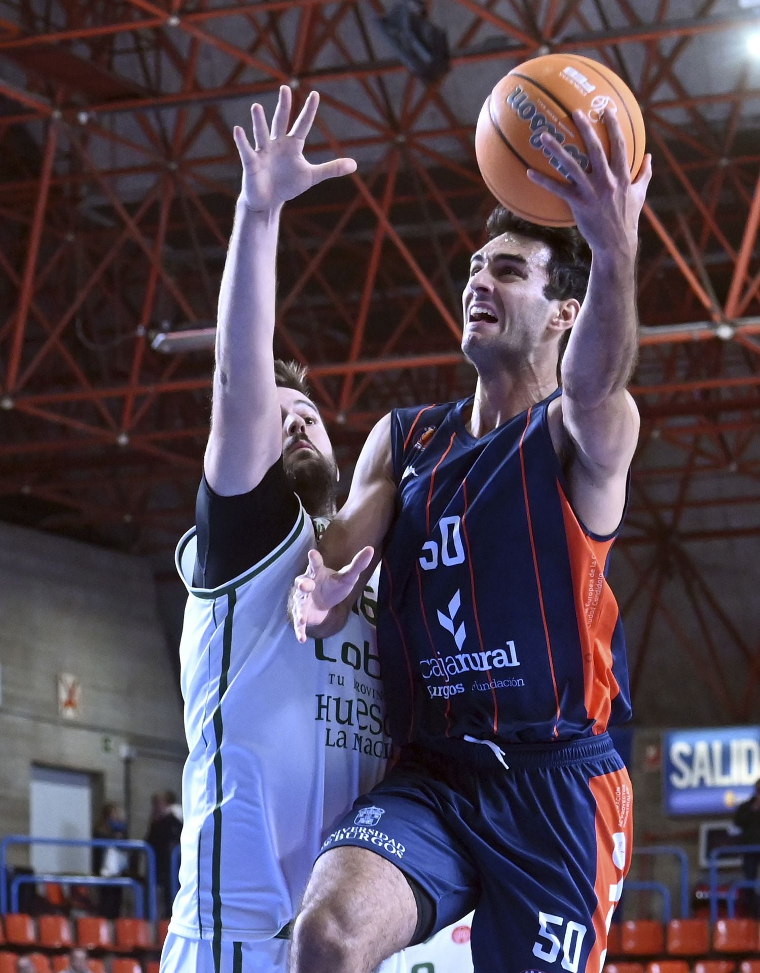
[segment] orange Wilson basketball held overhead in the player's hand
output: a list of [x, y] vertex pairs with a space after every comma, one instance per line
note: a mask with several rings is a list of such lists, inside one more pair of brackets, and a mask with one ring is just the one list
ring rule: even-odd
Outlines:
[[644, 158], [644, 120], [633, 92], [618, 76], [590, 57], [546, 54], [513, 68], [490, 92], [475, 130], [475, 154], [490, 192], [532, 223], [569, 227], [570, 207], [527, 178], [528, 168], [562, 181], [561, 159], [540, 142], [547, 131], [584, 168], [586, 147], [572, 113], [582, 109], [596, 124], [609, 158], [603, 111], [616, 111], [635, 176]]

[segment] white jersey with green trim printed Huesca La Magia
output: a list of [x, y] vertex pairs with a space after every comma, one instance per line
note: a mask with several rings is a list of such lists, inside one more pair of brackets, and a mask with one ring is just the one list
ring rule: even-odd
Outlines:
[[323, 835], [390, 756], [372, 587], [331, 638], [302, 645], [288, 622], [288, 592], [315, 543], [301, 508], [267, 558], [211, 591], [193, 588], [195, 529], [177, 548], [190, 750], [177, 935], [274, 936], [296, 915]]

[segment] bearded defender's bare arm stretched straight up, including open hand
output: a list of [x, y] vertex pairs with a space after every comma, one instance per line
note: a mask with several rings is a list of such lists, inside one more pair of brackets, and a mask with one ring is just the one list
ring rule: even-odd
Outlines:
[[279, 217], [288, 199], [356, 168], [351, 159], [312, 165], [304, 143], [319, 96], [312, 91], [289, 129], [292, 92], [279, 90], [267, 125], [251, 108], [254, 144], [235, 126], [242, 186], [235, 207], [216, 333], [211, 433], [204, 457], [209, 486], [232, 496], [257, 486], [282, 451], [282, 417], [274, 385], [274, 301]]

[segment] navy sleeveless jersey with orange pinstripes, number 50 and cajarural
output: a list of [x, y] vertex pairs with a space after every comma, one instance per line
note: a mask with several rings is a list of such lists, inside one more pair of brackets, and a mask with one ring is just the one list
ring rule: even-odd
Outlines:
[[398, 744], [572, 739], [631, 717], [615, 535], [567, 499], [547, 421], [559, 394], [481, 439], [472, 398], [392, 413], [378, 642]]

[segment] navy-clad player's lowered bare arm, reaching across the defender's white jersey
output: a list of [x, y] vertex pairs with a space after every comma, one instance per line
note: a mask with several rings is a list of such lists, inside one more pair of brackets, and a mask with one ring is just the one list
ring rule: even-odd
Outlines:
[[344, 627], [380, 560], [395, 496], [388, 414], [367, 437], [348, 499], [323, 534], [319, 550], [309, 552], [307, 573], [296, 578], [289, 610], [300, 641], [326, 638]]

